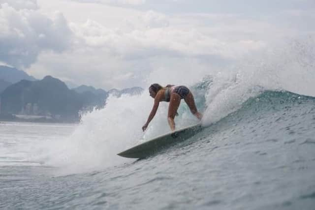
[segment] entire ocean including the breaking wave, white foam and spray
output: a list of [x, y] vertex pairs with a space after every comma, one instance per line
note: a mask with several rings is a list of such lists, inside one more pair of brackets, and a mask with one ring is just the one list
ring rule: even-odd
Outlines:
[[[0, 122], [0, 209], [315, 210], [315, 38], [292, 43], [152, 72], [148, 86], [189, 86], [204, 129], [146, 159], [117, 153], [169, 132], [167, 103], [142, 132], [147, 91], [78, 124]], [[178, 113], [177, 128], [198, 122], [185, 102]]]

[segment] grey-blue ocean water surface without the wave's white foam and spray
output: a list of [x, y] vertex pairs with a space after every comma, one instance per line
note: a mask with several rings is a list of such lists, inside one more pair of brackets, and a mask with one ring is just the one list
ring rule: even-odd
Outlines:
[[105, 155], [71, 169], [94, 162], [82, 150], [80, 161], [50, 161], [70, 151], [48, 145], [81, 126], [1, 122], [0, 209], [315, 209], [314, 97], [262, 91], [143, 160]]

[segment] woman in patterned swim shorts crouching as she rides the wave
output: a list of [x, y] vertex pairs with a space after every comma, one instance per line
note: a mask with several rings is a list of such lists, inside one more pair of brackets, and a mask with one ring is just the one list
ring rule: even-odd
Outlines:
[[147, 122], [142, 127], [143, 131], [145, 131], [151, 120], [156, 115], [158, 104], [161, 101], [169, 102], [167, 120], [172, 131], [175, 130], [174, 118], [177, 114], [177, 109], [179, 107], [179, 104], [181, 103], [181, 99], [185, 100], [185, 102], [189, 106], [191, 113], [196, 116], [196, 118], [201, 120], [202, 115], [198, 112], [195, 101], [193, 99], [193, 95], [187, 87], [167, 85], [165, 88], [163, 88], [159, 84], [155, 83], [150, 86], [149, 92], [150, 96], [154, 98], [154, 105]]

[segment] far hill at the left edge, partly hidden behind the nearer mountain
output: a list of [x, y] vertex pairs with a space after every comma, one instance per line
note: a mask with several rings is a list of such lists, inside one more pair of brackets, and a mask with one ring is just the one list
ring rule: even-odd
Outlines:
[[17, 83], [21, 80], [36, 80], [34, 77], [28, 75], [24, 71], [4, 65], [0, 65], [0, 79], [9, 83]]

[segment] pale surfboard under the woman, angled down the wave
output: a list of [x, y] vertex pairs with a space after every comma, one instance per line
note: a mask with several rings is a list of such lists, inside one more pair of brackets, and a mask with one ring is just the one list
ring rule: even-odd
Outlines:
[[144, 142], [140, 145], [132, 147], [128, 150], [118, 153], [122, 157], [128, 158], [146, 158], [154, 153], [166, 149], [176, 142], [181, 142], [189, 139], [191, 136], [202, 130], [201, 124], [195, 124], [185, 127]]

